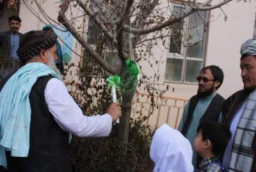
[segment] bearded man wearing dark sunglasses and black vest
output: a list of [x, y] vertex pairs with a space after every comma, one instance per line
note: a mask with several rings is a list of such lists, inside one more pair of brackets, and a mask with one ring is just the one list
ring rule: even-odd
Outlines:
[[221, 119], [220, 112], [225, 99], [216, 91], [220, 88], [223, 78], [223, 71], [218, 66], [211, 65], [202, 68], [199, 76], [196, 77], [198, 81], [197, 94], [189, 99], [180, 120], [178, 129], [192, 145], [195, 169], [196, 164], [200, 161], [194, 150], [196, 129], [201, 122]]

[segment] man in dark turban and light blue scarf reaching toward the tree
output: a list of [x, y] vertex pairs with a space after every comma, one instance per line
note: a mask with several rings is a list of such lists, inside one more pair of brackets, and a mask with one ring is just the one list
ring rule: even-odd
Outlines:
[[71, 172], [70, 133], [108, 136], [122, 115], [118, 104], [83, 115], [54, 72], [56, 39], [54, 32], [27, 32], [18, 50], [22, 68], [0, 87], [0, 164], [8, 171]]

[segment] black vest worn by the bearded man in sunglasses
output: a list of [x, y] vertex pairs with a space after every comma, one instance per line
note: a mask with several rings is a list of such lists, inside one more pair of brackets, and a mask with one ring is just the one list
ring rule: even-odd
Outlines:
[[[188, 131], [188, 128], [191, 124], [191, 120], [193, 118], [194, 110], [196, 108], [196, 104], [198, 103], [199, 99], [200, 98], [195, 95], [195, 96], [191, 97], [191, 99], [189, 101], [188, 117], [187, 117], [184, 127], [181, 131], [181, 133], [183, 135], [185, 135]], [[207, 121], [207, 120], [218, 121], [218, 117], [222, 110], [224, 101], [225, 101], [225, 99], [222, 96], [220, 96], [220, 94], [216, 94], [216, 96], [214, 96], [211, 103], [209, 104], [204, 115], [200, 118], [200, 123]]]

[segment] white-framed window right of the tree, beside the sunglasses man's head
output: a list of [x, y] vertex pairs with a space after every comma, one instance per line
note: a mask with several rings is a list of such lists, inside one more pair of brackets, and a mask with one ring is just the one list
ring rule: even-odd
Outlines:
[[[174, 4], [173, 15], [180, 15], [185, 6]], [[204, 65], [206, 11], [193, 13], [172, 26], [170, 48], [166, 58], [165, 82], [195, 83]]]

